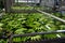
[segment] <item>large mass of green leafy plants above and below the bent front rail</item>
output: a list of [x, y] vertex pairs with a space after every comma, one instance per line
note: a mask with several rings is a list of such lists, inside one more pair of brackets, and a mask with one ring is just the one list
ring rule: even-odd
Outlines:
[[[13, 34], [25, 34], [32, 32], [54, 31], [65, 29], [65, 25], [61, 22], [56, 23], [53, 18], [46, 16], [41, 13], [20, 13], [20, 14], [5, 14], [0, 20], [1, 33], [5, 30], [5, 35]], [[6, 33], [8, 32], [8, 33]], [[64, 37], [64, 34], [60, 34]], [[41, 40], [41, 39], [54, 39], [58, 38], [56, 34], [44, 34], [35, 37], [23, 37], [13, 38], [14, 42], [29, 41], [29, 40]]]

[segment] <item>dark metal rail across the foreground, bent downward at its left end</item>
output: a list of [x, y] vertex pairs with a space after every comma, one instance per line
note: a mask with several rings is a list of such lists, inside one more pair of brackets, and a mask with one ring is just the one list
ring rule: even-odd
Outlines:
[[56, 30], [56, 31], [48, 31], [48, 32], [34, 32], [34, 33], [25, 33], [25, 34], [13, 34], [9, 39], [9, 43], [13, 43], [12, 39], [17, 37], [32, 37], [37, 34], [52, 34], [52, 33], [65, 33], [65, 30]]

